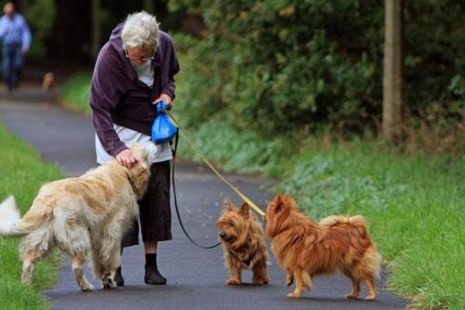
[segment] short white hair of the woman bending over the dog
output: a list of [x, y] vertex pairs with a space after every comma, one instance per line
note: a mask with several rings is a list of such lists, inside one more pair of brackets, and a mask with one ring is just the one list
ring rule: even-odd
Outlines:
[[155, 16], [145, 11], [129, 14], [121, 33], [124, 48], [156, 49], [160, 36], [158, 25]]

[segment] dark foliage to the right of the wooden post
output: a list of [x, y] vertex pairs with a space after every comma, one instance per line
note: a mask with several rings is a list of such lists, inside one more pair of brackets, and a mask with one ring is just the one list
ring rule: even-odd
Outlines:
[[412, 109], [436, 101], [451, 112], [465, 108], [458, 84], [465, 75], [465, 59], [459, 56], [465, 52], [465, 25], [457, 19], [464, 12], [463, 1], [405, 1], [404, 89]]

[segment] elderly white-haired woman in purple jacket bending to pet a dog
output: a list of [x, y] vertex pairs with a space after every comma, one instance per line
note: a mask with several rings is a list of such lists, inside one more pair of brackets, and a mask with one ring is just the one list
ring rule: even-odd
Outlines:
[[[155, 16], [129, 15], [102, 47], [92, 76], [90, 104], [95, 127], [97, 162], [116, 158], [129, 168], [135, 162], [128, 149], [150, 142], [155, 105], [174, 99], [179, 64], [170, 36], [158, 29]], [[152, 176], [140, 204], [140, 229], [145, 249], [145, 283], [166, 284], [156, 264], [157, 242], [171, 240], [170, 160], [168, 142], [152, 144]], [[124, 236], [123, 247], [138, 244], [139, 225]], [[119, 269], [115, 280], [124, 285]]]

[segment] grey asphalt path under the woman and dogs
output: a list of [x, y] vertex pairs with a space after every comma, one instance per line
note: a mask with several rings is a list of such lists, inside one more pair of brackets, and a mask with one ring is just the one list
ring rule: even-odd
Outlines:
[[[82, 174], [95, 167], [94, 133], [89, 117], [65, 111], [44, 103], [47, 95], [0, 95], [0, 119], [19, 137], [28, 141], [44, 160], [55, 163], [68, 176]], [[181, 141], [183, 143], [184, 141]], [[230, 175], [227, 178], [241, 188], [258, 205], [264, 207], [272, 194], [265, 191], [267, 181], [258, 177]], [[235, 194], [207, 168], [190, 164], [176, 165], [178, 204], [186, 229], [204, 245], [214, 244], [216, 220], [223, 200], [228, 197], [240, 203]], [[168, 279], [166, 286], [150, 286], [143, 282], [144, 253], [142, 246], [125, 248], [123, 276], [125, 286], [102, 290], [93, 280], [96, 290], [80, 292], [67, 257], [63, 256], [57, 285], [46, 291], [54, 309], [331, 309], [331, 310], [392, 310], [404, 309], [407, 300], [391, 294], [385, 286], [385, 275], [377, 282], [380, 292], [374, 302], [348, 300], [350, 281], [341, 276], [314, 279], [314, 289], [304, 298], [286, 298], [293, 288], [285, 286], [285, 275], [271, 258], [271, 282], [254, 286], [249, 271], [243, 272], [241, 286], [227, 286], [228, 271], [220, 248], [211, 250], [193, 246], [180, 230], [173, 212], [173, 240], [161, 242], [158, 267]], [[270, 255], [272, 256], [272, 255]], [[92, 279], [90, 269], [86, 273]], [[367, 294], [362, 284], [361, 297]]]

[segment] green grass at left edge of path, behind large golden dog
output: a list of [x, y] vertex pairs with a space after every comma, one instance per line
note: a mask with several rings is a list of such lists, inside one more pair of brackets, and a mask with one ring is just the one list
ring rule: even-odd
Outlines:
[[[55, 166], [45, 164], [25, 142], [7, 131], [0, 123], [0, 200], [13, 194], [22, 214], [31, 206], [39, 187], [62, 177]], [[0, 309], [49, 309], [41, 290], [53, 285], [58, 259], [52, 256], [38, 263], [33, 284], [21, 284], [21, 262], [18, 258], [19, 239], [0, 238]]]

